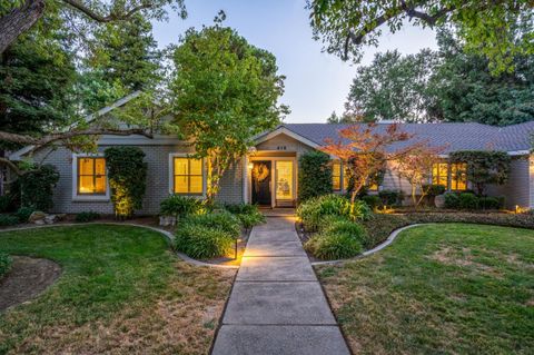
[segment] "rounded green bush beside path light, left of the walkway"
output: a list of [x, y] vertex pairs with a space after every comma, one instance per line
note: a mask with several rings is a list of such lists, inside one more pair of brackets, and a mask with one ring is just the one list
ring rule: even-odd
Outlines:
[[227, 255], [235, 245], [235, 238], [219, 228], [186, 223], [176, 231], [176, 249], [197, 259]]

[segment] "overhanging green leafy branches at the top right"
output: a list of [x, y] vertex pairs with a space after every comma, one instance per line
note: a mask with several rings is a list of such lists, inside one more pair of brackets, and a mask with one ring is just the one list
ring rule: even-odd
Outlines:
[[406, 24], [453, 26], [466, 49], [484, 56], [494, 73], [514, 69], [513, 58], [534, 53], [534, 33], [516, 23], [534, 20], [532, 0], [307, 0], [314, 37], [325, 50], [359, 61], [365, 46], [376, 46], [384, 28]]

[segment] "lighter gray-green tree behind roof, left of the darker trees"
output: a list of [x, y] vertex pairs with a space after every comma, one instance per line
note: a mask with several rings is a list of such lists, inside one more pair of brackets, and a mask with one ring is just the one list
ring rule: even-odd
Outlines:
[[438, 62], [424, 49], [402, 56], [397, 50], [377, 53], [369, 66], [358, 68], [347, 97], [346, 115], [367, 122], [379, 120], [427, 121], [427, 81]]

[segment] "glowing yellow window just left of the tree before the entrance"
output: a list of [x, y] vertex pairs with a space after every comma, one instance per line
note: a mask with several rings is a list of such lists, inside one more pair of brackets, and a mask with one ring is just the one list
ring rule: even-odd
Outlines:
[[204, 187], [202, 159], [174, 159], [174, 193], [201, 195]]

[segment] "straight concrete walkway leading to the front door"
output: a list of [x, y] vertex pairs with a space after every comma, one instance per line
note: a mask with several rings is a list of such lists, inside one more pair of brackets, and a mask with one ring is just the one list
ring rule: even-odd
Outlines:
[[253, 229], [214, 355], [349, 354], [294, 224]]

